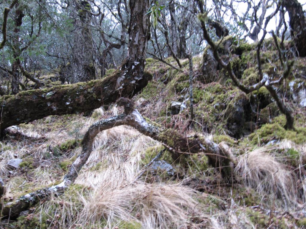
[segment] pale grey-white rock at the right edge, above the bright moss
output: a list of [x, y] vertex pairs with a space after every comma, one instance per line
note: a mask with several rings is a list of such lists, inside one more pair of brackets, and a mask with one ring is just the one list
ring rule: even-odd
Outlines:
[[306, 107], [306, 82], [304, 80], [293, 80], [289, 83], [293, 100], [300, 107]]

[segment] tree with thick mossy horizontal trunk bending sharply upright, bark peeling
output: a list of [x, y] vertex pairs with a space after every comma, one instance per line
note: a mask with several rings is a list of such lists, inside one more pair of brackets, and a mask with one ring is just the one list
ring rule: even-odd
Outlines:
[[74, 114], [109, 105], [121, 96], [132, 97], [147, 85], [151, 75], [144, 73], [150, 16], [148, 0], [130, 2], [129, 46], [127, 60], [102, 80], [49, 89], [28, 90], [2, 96], [1, 130], [48, 115]]

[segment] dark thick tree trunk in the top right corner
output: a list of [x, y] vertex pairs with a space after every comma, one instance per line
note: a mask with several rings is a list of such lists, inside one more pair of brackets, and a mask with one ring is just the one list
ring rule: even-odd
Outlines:
[[306, 56], [306, 17], [302, 5], [297, 0], [284, 0], [282, 5], [289, 13], [291, 35], [300, 57]]

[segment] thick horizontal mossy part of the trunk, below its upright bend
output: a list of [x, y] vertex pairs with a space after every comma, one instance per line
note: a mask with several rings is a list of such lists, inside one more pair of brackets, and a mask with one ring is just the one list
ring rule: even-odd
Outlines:
[[128, 74], [125, 64], [100, 80], [47, 89], [22, 91], [2, 96], [0, 131], [12, 125], [28, 123], [48, 115], [75, 114], [91, 111], [115, 102], [121, 96], [132, 97], [147, 85], [151, 75]]

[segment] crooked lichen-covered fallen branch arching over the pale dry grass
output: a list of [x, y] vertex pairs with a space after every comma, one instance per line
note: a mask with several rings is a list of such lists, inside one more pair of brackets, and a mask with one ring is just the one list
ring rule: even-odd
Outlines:
[[187, 154], [203, 152], [209, 158], [209, 163], [218, 168], [224, 176], [231, 175], [230, 171], [233, 167], [231, 162], [233, 160], [225, 147], [218, 146], [206, 138], [184, 136], [173, 129], [158, 126], [150, 120], [143, 118], [139, 111], [133, 108], [131, 100], [121, 98], [118, 101], [118, 105], [125, 107], [124, 114], [95, 122], [89, 127], [82, 140], [82, 153], [73, 162], [62, 183], [28, 193], [19, 197], [14, 202], [0, 204], [2, 217], [17, 218], [22, 211], [37, 204], [41, 199], [47, 198], [52, 194], [62, 194], [69, 185], [74, 183], [81, 168], [87, 162], [92, 151], [95, 136], [103, 130], [119, 125], [132, 126], [140, 133], [161, 142], [172, 153], [174, 159], [179, 159]]

